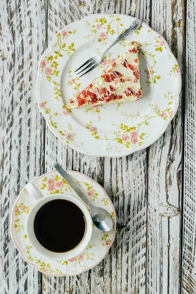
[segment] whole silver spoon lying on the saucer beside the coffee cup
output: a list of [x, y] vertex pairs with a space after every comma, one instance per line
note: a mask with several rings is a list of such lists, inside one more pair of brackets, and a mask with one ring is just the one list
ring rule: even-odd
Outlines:
[[65, 172], [62, 167], [58, 164], [58, 162], [53, 161], [52, 165], [55, 169], [61, 174], [61, 176], [68, 182], [68, 184], [72, 187], [75, 193], [91, 208], [91, 217], [94, 224], [98, 227], [101, 231], [110, 231], [113, 228], [113, 221], [112, 218], [107, 212], [107, 210], [96, 207], [87, 198], [87, 196], [80, 190], [80, 188], [75, 184], [73, 179]]

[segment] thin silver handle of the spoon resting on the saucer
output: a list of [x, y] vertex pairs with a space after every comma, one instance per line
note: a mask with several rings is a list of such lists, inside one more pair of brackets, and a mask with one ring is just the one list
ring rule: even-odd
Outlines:
[[57, 161], [53, 161], [52, 165], [55, 167], [55, 169], [62, 175], [62, 177], [68, 182], [68, 184], [72, 187], [72, 189], [75, 191], [75, 193], [90, 207], [92, 207], [91, 202], [87, 198], [87, 196], [80, 190], [80, 188], [75, 184], [73, 179], [69, 176], [67, 172], [63, 170], [63, 168], [58, 164]]

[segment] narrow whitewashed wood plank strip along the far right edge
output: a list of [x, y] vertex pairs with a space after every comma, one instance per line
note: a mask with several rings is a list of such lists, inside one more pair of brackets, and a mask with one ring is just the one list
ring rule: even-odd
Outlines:
[[187, 1], [182, 293], [196, 293], [196, 5]]

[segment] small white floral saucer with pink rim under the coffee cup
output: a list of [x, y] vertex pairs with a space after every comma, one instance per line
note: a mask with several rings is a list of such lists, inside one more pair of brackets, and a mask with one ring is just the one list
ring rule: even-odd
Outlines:
[[[35, 200], [24, 188], [12, 209], [11, 236], [21, 256], [28, 264], [45, 274], [53, 276], [73, 276], [94, 268], [107, 254], [116, 233], [116, 213], [105, 190], [97, 182], [80, 172], [68, 172], [95, 205], [103, 207], [111, 213], [114, 228], [110, 232], [102, 232], [96, 226], [93, 226], [91, 241], [80, 255], [70, 260], [58, 262], [49, 260], [37, 252], [28, 241], [26, 219]], [[49, 194], [65, 193], [80, 199], [58, 172], [45, 173], [32, 182], [46, 197]]]

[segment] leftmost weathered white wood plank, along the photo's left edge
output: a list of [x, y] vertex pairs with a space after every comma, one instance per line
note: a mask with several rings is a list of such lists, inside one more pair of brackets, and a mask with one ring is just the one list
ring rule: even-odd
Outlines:
[[42, 174], [44, 119], [35, 83], [46, 29], [43, 0], [0, 1], [0, 293], [39, 292], [41, 275], [10, 236], [11, 209], [25, 183]]

